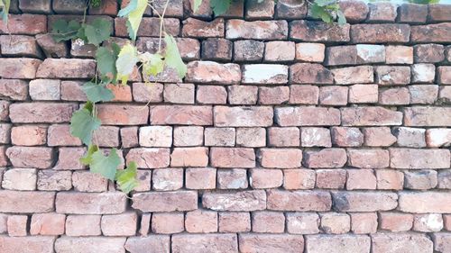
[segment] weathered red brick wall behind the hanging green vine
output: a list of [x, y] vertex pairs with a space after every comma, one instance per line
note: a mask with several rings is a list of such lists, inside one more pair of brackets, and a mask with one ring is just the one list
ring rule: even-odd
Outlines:
[[[451, 252], [451, 5], [343, 2], [350, 24], [337, 26], [290, 2], [238, 1], [212, 19], [171, 0], [187, 77], [146, 86], [136, 71], [98, 105], [97, 144], [138, 163], [127, 198], [69, 135], [93, 48], [44, 35], [83, 1], [13, 1], [0, 24], [0, 252]], [[104, 3], [88, 13], [124, 43]], [[136, 45], [154, 51], [146, 15]]]

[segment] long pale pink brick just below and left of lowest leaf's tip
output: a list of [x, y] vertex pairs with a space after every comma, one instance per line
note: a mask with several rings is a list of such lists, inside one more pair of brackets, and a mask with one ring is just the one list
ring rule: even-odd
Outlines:
[[60, 192], [55, 200], [56, 211], [71, 214], [114, 214], [125, 211], [125, 194]]

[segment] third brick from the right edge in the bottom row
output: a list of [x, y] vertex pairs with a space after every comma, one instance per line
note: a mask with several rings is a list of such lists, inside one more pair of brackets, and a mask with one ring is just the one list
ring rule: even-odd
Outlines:
[[366, 235], [308, 235], [306, 236], [306, 252], [327, 252], [334, 248], [336, 252], [370, 252], [370, 237]]

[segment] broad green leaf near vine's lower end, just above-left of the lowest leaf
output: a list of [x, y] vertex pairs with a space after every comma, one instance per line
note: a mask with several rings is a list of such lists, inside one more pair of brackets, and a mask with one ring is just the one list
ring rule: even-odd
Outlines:
[[115, 172], [121, 164], [121, 158], [117, 156], [117, 149], [111, 149], [106, 157], [102, 150], [97, 150], [92, 154], [89, 167], [91, 172], [98, 173], [110, 180], [115, 180]]

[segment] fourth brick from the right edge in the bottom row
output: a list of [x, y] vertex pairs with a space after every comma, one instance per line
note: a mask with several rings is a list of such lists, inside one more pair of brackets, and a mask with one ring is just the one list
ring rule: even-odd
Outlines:
[[240, 234], [239, 244], [241, 252], [245, 253], [295, 253], [304, 248], [304, 238], [290, 234]]

